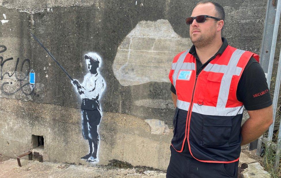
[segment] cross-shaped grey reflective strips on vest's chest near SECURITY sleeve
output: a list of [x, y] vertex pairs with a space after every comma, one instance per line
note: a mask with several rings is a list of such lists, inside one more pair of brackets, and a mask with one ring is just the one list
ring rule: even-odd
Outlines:
[[231, 55], [231, 58], [227, 65], [218, 65], [218, 64], [209, 63], [204, 68], [204, 71], [224, 73], [223, 78], [221, 79], [221, 86], [220, 86], [219, 97], [217, 101], [217, 107], [219, 108], [225, 108], [226, 106], [232, 76], [233, 75], [239, 76], [242, 71], [242, 68], [237, 67], [237, 64], [244, 52], [245, 51], [243, 50], [236, 49]]

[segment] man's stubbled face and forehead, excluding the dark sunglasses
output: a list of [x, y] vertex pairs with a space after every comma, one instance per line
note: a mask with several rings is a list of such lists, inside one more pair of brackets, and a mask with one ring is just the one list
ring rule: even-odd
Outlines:
[[[209, 15], [217, 17], [215, 6], [212, 3], [197, 5], [191, 14], [191, 17], [199, 15]], [[206, 18], [205, 22], [198, 23], [194, 19], [189, 26], [189, 35], [192, 43], [196, 47], [204, 47], [208, 45], [217, 35], [216, 28], [217, 20], [212, 18]]]

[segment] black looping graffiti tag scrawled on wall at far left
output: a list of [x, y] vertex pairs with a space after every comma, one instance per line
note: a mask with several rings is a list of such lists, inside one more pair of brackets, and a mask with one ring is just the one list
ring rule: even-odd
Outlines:
[[[3, 52], [5, 52], [7, 50], [7, 47], [5, 47], [4, 45], [1, 45], [0, 44], [0, 53], [3, 53]], [[20, 58], [18, 58], [17, 59], [17, 61], [16, 61], [16, 65], [15, 65], [15, 69], [14, 69], [14, 71], [10, 74], [9, 72], [5, 72], [4, 74], [3, 74], [3, 65], [5, 64], [5, 62], [7, 62], [7, 61], [10, 61], [10, 60], [13, 60], [14, 58], [8, 58], [8, 59], [3, 59], [3, 57], [2, 56], [0, 56], [0, 59], [1, 59], [1, 63], [0, 63], [0, 67], [1, 67], [1, 73], [0, 73], [0, 78], [1, 78], [1, 80], [3, 80], [3, 78], [4, 78], [4, 76], [5, 75], [8, 75], [9, 77], [12, 77], [14, 74], [15, 74], [15, 77], [16, 77], [16, 79], [17, 79], [17, 81], [18, 82], [20, 82], [20, 87], [19, 88], [17, 88], [14, 92], [6, 92], [5, 90], [4, 90], [4, 86], [6, 86], [7, 84], [12, 84], [12, 82], [4, 82], [2, 85], [1, 85], [1, 90], [2, 90], [2, 92], [4, 93], [4, 94], [6, 94], [6, 95], [13, 95], [13, 94], [15, 94], [16, 92], [18, 92], [18, 91], [22, 91], [25, 95], [31, 95], [31, 94], [33, 94], [33, 91], [34, 90], [32, 90], [31, 92], [29, 92], [29, 93], [27, 93], [27, 92], [25, 92], [24, 90], [23, 90], [23, 88], [25, 87], [25, 86], [27, 86], [27, 85], [29, 85], [29, 82], [26, 82], [25, 84], [22, 84], [23, 83], [23, 81], [26, 79], [26, 77], [28, 77], [28, 74], [29, 74], [29, 71], [30, 71], [30, 60], [29, 59], [25, 59], [23, 62], [22, 62], [22, 64], [21, 64], [21, 68], [20, 68], [20, 72], [22, 73], [22, 70], [23, 70], [23, 68], [24, 67], [27, 67], [27, 70], [26, 70], [26, 72], [25, 72], [25, 74], [24, 74], [24, 77], [23, 78], [19, 78], [18, 76], [17, 76], [17, 69], [18, 69], [18, 63], [19, 63], [19, 61], [20, 61]]]

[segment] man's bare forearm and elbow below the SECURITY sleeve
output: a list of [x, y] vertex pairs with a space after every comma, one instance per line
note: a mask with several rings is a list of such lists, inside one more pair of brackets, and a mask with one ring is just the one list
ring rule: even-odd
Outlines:
[[250, 118], [242, 125], [241, 145], [246, 145], [259, 138], [273, 122], [272, 105], [263, 109], [248, 111]]

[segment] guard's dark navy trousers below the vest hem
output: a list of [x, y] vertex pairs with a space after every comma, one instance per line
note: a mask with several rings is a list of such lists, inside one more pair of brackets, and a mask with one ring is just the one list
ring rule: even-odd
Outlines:
[[236, 177], [238, 161], [232, 163], [200, 162], [188, 158], [171, 148], [171, 158], [167, 169], [167, 178], [225, 178]]

